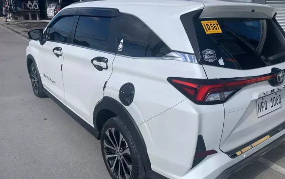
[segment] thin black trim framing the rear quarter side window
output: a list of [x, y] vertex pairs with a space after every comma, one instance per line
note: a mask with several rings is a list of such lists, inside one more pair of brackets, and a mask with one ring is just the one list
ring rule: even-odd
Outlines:
[[[145, 23], [143, 20], [141, 20], [139, 17], [133, 15], [133, 14], [130, 14], [130, 13], [124, 13], [124, 12], [119, 12], [120, 14], [126, 14], [126, 15], [130, 15], [130, 16], [133, 16], [135, 18], [137, 18], [139, 21], [141, 21], [142, 23], [144, 23], [169, 49], [171, 52], [174, 52], [169, 46], [167, 43], [165, 43], [165, 41], [149, 26], [147, 25], [147, 23]], [[118, 18], [118, 23], [119, 23], [119, 18]], [[119, 28], [119, 25], [117, 26], [117, 32], [118, 32], [118, 29]], [[118, 33], [117, 33], [118, 34]], [[116, 40], [117, 40], [117, 37], [116, 37]], [[116, 45], [117, 45], [117, 41], [116, 41]], [[164, 60], [165, 56], [163, 57], [133, 57], [133, 56], [128, 56], [128, 55], [122, 55], [122, 54], [119, 54], [117, 49], [116, 49], [116, 55], [117, 56], [121, 56], [121, 57], [127, 57], [127, 58], [135, 58], [135, 59], [157, 59], [157, 60]], [[168, 54], [166, 54], [168, 55]]]

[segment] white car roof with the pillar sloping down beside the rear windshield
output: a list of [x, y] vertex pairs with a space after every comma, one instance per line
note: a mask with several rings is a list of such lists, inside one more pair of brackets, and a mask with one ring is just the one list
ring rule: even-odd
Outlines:
[[229, 3], [226, 1], [231, 0], [91, 0], [73, 3], [64, 9], [95, 7], [118, 9], [121, 13], [131, 14], [143, 21], [172, 50], [193, 54], [194, 50], [189, 42], [189, 38], [185, 32], [183, 24], [180, 21], [181, 15], [196, 10], [203, 10], [206, 6], [209, 6], [210, 9], [214, 7], [215, 11], [217, 11], [219, 6], [222, 7], [221, 9], [226, 11], [228, 11], [229, 7], [236, 5], [238, 6], [236, 6], [235, 10], [242, 10], [244, 6], [246, 6], [247, 9], [252, 7], [268, 7], [252, 3]]

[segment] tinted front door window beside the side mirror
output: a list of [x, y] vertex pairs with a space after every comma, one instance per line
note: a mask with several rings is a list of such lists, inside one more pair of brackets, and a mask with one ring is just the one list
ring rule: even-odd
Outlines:
[[74, 17], [63, 17], [48, 28], [45, 39], [55, 42], [67, 42], [69, 33], [72, 30]]

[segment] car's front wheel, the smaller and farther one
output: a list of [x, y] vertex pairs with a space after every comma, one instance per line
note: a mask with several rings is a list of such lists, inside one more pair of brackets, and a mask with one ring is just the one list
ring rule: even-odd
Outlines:
[[31, 64], [31, 83], [32, 83], [32, 88], [34, 91], [35, 96], [39, 98], [46, 97], [47, 95], [44, 93], [43, 89], [43, 84], [42, 84], [42, 79], [39, 73], [39, 70], [37, 68], [37, 65], [33, 62]]

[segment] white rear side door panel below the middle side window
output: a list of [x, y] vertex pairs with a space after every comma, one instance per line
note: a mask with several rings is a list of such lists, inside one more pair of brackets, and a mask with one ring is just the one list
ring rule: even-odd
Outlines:
[[[115, 55], [66, 44], [60, 44], [60, 47], [64, 56], [62, 72], [66, 104], [93, 123], [93, 111], [103, 98], [103, 86], [112, 73]], [[91, 63], [95, 57], [107, 58], [108, 69], [98, 71]]]

